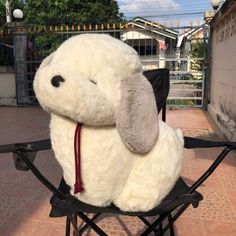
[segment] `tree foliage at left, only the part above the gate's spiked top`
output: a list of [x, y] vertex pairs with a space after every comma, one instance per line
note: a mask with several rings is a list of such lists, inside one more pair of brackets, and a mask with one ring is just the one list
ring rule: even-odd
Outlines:
[[26, 0], [24, 13], [36, 25], [113, 23], [123, 17], [115, 0]]

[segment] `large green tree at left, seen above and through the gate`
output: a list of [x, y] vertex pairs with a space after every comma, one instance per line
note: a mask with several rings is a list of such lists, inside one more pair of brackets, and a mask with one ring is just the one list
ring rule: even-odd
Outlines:
[[[123, 20], [115, 0], [25, 0], [25, 23], [34, 25], [38, 31], [44, 26], [72, 26], [118, 23]], [[68, 35], [32, 34], [31, 41], [39, 57], [54, 51]]]

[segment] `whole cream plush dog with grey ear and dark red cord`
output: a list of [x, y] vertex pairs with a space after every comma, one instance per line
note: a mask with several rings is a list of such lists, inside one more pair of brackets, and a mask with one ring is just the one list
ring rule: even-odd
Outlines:
[[42, 62], [34, 89], [51, 114], [52, 148], [72, 195], [148, 211], [168, 194], [183, 137], [158, 120], [133, 48], [108, 35], [74, 36]]

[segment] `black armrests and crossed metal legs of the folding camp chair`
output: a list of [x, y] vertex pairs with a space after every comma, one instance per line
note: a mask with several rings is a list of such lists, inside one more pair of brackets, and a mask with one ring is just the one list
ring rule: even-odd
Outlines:
[[[149, 235], [151, 232], [154, 232], [155, 235], [164, 235], [164, 233], [169, 230], [170, 235], [174, 236], [174, 222], [181, 216], [181, 214], [187, 209], [189, 205], [193, 205], [193, 207], [197, 207], [198, 203], [201, 199], [194, 199], [194, 192], [197, 188], [215, 171], [215, 169], [219, 166], [219, 164], [224, 160], [229, 152], [236, 149], [236, 142], [214, 142], [214, 141], [206, 141], [202, 139], [190, 138], [185, 137], [185, 148], [215, 148], [215, 147], [224, 147], [218, 157], [214, 160], [211, 166], [200, 176], [200, 178], [189, 188], [188, 192], [186, 193], [186, 202], [177, 206], [170, 211], [164, 212], [162, 214], [156, 215], [156, 220], [150, 223], [146, 218], [145, 212], [143, 215], [135, 213], [127, 213], [127, 212], [120, 212], [124, 215], [131, 215], [137, 216], [146, 226], [147, 229], [144, 230], [140, 235]], [[42, 150], [49, 150], [51, 149], [50, 140], [41, 140], [36, 142], [29, 142], [29, 143], [18, 143], [18, 144], [10, 144], [10, 145], [1, 145], [0, 146], [0, 153], [13, 153], [15, 166], [18, 170], [31, 170], [36, 178], [46, 186], [57, 198], [59, 204], [56, 207], [61, 208], [63, 210], [67, 210], [67, 218], [66, 218], [66, 236], [70, 235], [70, 228], [71, 225], [73, 227], [74, 235], [82, 235], [85, 230], [88, 228], [93, 229], [98, 235], [105, 236], [107, 235], [94, 221], [101, 216], [105, 211], [98, 212], [94, 214], [92, 218], [89, 218], [86, 214], [91, 212], [79, 212], [73, 211], [71, 209], [72, 204], [74, 201], [77, 201], [71, 195], [63, 194], [58, 188], [56, 188], [47, 178], [39, 171], [39, 169], [34, 165], [32, 157], [35, 156], [36, 152]], [[55, 203], [54, 203], [55, 204]], [[93, 206], [91, 206], [93, 208]], [[95, 207], [96, 208], [96, 207]], [[97, 211], [97, 210], [96, 210]], [[77, 225], [77, 217], [81, 218], [85, 225], [78, 229]], [[165, 224], [167, 222], [167, 224]]]

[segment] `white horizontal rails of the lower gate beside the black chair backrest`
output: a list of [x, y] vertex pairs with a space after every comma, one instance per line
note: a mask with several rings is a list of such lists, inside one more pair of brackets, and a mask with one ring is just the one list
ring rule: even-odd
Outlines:
[[168, 107], [202, 107], [204, 98], [204, 70], [191, 70], [192, 62], [203, 63], [204, 58], [143, 58], [144, 70], [170, 69]]

